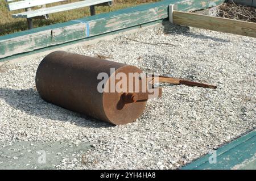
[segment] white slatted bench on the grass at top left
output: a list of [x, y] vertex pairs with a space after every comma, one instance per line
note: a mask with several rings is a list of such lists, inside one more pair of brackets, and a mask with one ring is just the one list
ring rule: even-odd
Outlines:
[[[66, 3], [64, 5], [46, 7], [47, 4], [54, 2], [61, 2], [67, 0], [23, 0], [23, 1], [15, 1], [15, 0], [6, 0], [8, 3], [9, 11], [25, 9], [26, 12], [20, 12], [18, 14], [13, 14], [13, 18], [27, 18], [28, 29], [33, 28], [32, 18], [45, 18], [49, 19], [49, 14], [67, 11], [73, 9], [79, 9], [81, 7], [90, 6], [90, 14], [95, 15], [95, 7], [94, 6], [110, 6], [112, 5], [113, 0], [85, 0], [78, 1], [73, 3]], [[31, 7], [42, 6], [40, 9], [31, 10]]]

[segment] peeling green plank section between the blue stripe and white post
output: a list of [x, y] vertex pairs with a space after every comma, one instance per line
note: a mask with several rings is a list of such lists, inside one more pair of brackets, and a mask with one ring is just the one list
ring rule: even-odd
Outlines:
[[82, 18], [89, 23], [90, 36], [100, 35], [101, 33], [121, 30], [127, 27], [137, 26], [139, 24], [153, 22], [159, 19], [168, 18], [168, 3], [152, 3], [139, 7], [132, 7], [126, 10], [115, 11], [111, 14], [104, 15], [97, 19], [89, 20]]

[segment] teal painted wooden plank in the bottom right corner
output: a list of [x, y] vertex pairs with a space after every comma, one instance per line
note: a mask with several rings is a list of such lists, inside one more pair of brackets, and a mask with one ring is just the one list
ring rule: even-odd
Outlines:
[[[232, 169], [246, 159], [255, 157], [256, 154], [256, 130], [224, 145], [216, 150], [217, 163], [209, 163], [210, 154], [184, 166], [183, 170], [196, 169]], [[255, 168], [256, 169], [256, 168]]]

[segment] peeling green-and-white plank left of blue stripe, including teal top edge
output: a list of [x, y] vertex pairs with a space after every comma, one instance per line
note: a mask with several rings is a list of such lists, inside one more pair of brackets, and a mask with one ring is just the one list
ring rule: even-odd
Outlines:
[[[12, 35], [0, 36], [0, 58], [87, 37], [86, 30], [81, 30], [80, 24], [78, 22], [58, 23], [52, 26], [13, 33]], [[53, 36], [53, 30], [59, 32], [63, 28], [64, 30], [72, 29], [72, 31]], [[74, 35], [77, 36], [74, 37]], [[64, 38], [60, 39], [61, 36]]]

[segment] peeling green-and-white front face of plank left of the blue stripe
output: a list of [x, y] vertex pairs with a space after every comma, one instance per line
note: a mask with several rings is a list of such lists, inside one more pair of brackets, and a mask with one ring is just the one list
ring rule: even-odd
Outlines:
[[84, 37], [87, 37], [86, 24], [74, 22], [65, 27], [28, 33], [7, 40], [0, 39], [0, 58]]

